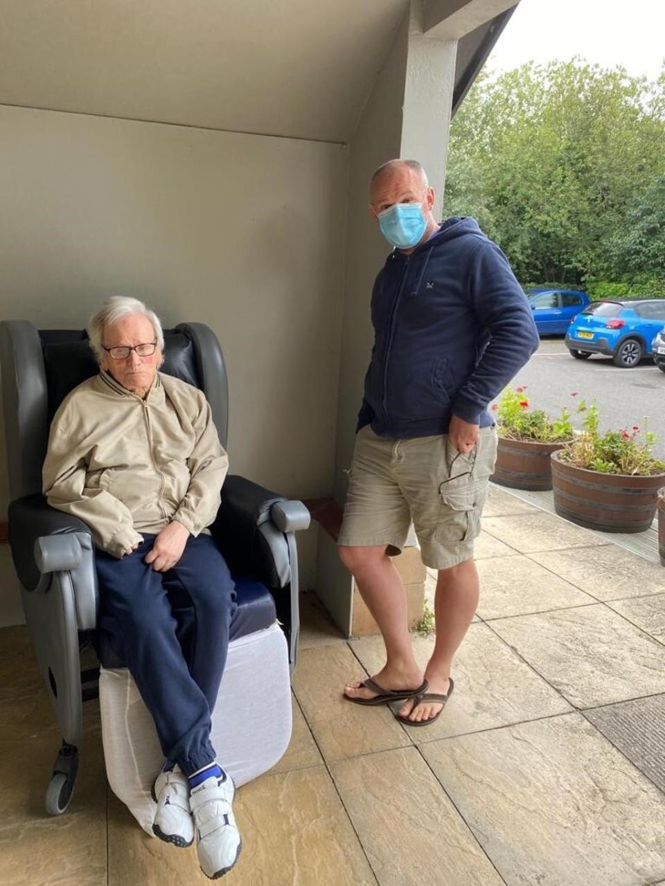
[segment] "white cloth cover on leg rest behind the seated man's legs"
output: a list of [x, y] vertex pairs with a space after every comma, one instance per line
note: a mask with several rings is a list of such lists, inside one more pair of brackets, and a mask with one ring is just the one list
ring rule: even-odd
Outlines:
[[[99, 705], [106, 774], [113, 793], [153, 835], [153, 781], [163, 763], [153, 718], [127, 668], [102, 668]], [[229, 644], [211, 741], [237, 785], [274, 766], [291, 738], [286, 637], [278, 625]]]

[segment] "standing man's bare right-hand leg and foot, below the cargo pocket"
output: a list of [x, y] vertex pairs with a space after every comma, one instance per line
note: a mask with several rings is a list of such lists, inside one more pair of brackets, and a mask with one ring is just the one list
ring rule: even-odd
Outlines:
[[[478, 606], [480, 582], [473, 560], [465, 560], [450, 569], [440, 569], [434, 595], [436, 641], [434, 652], [425, 669], [429, 683], [427, 692], [445, 695], [450, 685], [450, 668], [459, 644], [471, 624]], [[403, 703], [399, 714], [414, 721], [431, 719], [442, 709], [436, 702], [411, 700]]]

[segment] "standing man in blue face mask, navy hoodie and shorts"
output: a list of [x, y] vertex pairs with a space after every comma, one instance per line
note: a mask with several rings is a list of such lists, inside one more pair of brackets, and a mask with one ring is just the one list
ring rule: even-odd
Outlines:
[[[452, 659], [478, 603], [473, 539], [497, 455], [489, 402], [534, 353], [538, 334], [505, 255], [476, 221], [434, 220], [434, 190], [417, 161], [379, 167], [370, 195], [370, 213], [395, 248], [372, 291], [375, 340], [338, 544], [387, 662], [344, 693], [358, 704], [403, 701], [397, 718], [426, 726], [453, 690]], [[425, 672], [389, 559], [411, 521], [423, 563], [439, 572]]]

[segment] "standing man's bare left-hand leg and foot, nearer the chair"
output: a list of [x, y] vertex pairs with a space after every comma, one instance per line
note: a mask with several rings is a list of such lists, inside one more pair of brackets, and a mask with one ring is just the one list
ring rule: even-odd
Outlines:
[[[353, 574], [360, 593], [372, 612], [386, 644], [386, 664], [374, 679], [386, 689], [414, 689], [423, 681], [423, 672], [413, 657], [406, 609], [406, 591], [399, 572], [386, 553], [385, 545], [372, 547], [340, 546], [340, 559]], [[348, 683], [344, 692], [350, 698], [373, 698], [376, 693]]]

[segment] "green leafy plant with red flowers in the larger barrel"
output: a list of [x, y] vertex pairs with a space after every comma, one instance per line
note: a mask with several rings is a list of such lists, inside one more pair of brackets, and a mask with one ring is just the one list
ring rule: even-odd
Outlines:
[[586, 413], [583, 430], [559, 453], [561, 461], [603, 474], [648, 477], [665, 472], [665, 462], [653, 457], [656, 435], [648, 430], [646, 419], [643, 428], [634, 424], [630, 429], [601, 434], [596, 403], [587, 407], [582, 402], [579, 409]]

